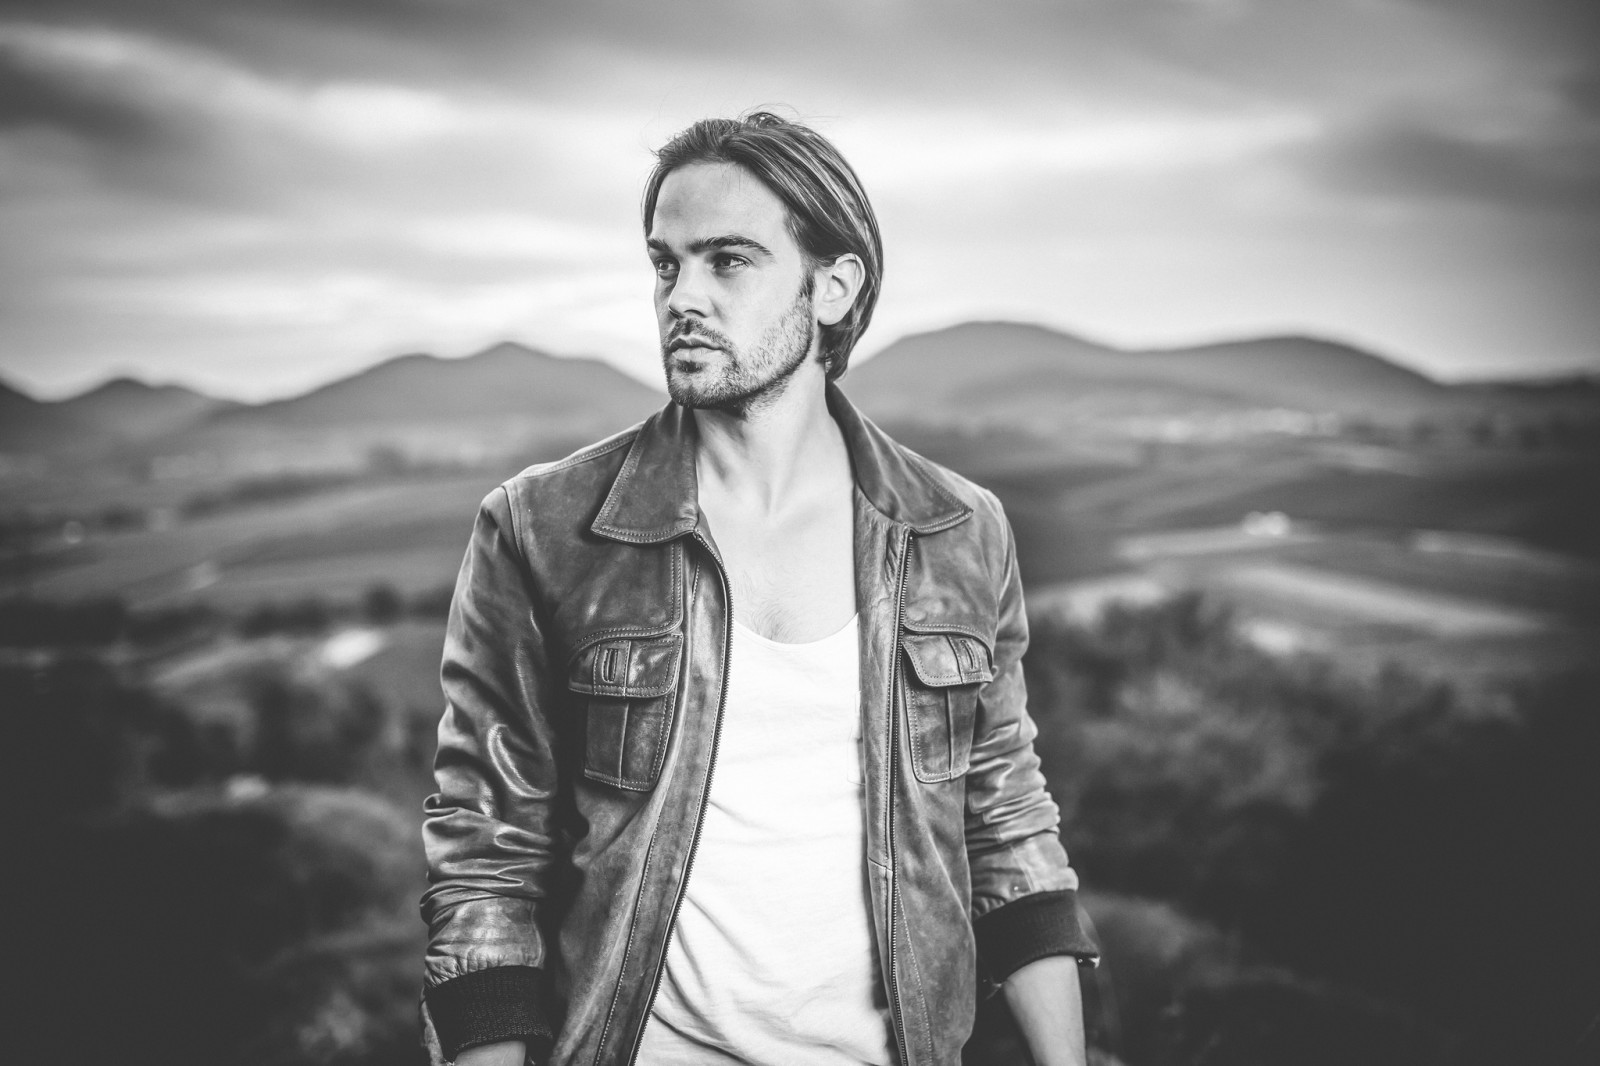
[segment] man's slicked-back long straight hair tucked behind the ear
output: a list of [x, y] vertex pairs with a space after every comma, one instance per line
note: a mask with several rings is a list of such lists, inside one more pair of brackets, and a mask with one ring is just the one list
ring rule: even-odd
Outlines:
[[656, 166], [645, 182], [645, 234], [656, 218], [661, 182], [690, 163], [734, 163], [771, 189], [787, 208], [789, 235], [806, 258], [808, 277], [811, 269], [845, 253], [861, 258], [866, 279], [856, 303], [837, 323], [822, 327], [822, 365], [829, 381], [838, 378], [872, 322], [883, 280], [883, 238], [856, 171], [816, 130], [768, 110], [702, 118], [656, 152]]

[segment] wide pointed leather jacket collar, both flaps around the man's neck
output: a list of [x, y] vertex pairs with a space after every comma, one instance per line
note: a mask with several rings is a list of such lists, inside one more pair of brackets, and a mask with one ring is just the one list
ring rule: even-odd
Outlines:
[[[934, 480], [925, 459], [894, 443], [835, 384], [827, 386], [827, 408], [845, 434], [856, 487], [886, 519], [928, 535], [973, 512]], [[589, 528], [629, 544], [656, 544], [693, 531], [699, 523], [694, 437], [694, 419], [677, 403], [651, 415]]]

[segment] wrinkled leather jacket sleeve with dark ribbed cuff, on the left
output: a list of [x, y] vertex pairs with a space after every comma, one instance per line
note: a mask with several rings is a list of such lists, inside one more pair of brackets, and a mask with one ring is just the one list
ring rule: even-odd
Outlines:
[[550, 680], [510, 496], [485, 498], [445, 634], [422, 847], [429, 890], [424, 1008], [445, 1058], [550, 1039], [541, 911], [560, 860]]

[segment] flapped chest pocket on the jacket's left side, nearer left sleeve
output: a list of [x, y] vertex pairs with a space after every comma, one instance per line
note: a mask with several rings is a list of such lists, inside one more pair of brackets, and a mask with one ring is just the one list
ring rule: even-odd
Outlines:
[[661, 776], [677, 707], [683, 635], [600, 640], [579, 648], [566, 687], [584, 706], [584, 776], [648, 792]]

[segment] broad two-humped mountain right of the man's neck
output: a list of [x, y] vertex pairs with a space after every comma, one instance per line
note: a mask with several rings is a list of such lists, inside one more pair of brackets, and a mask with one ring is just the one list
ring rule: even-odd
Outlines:
[[1333, 341], [1282, 336], [1123, 351], [1011, 322], [907, 336], [845, 381], [880, 418], [1070, 411], [1086, 403], [1130, 415], [1270, 407], [1400, 416], [1459, 402], [1448, 386]]

